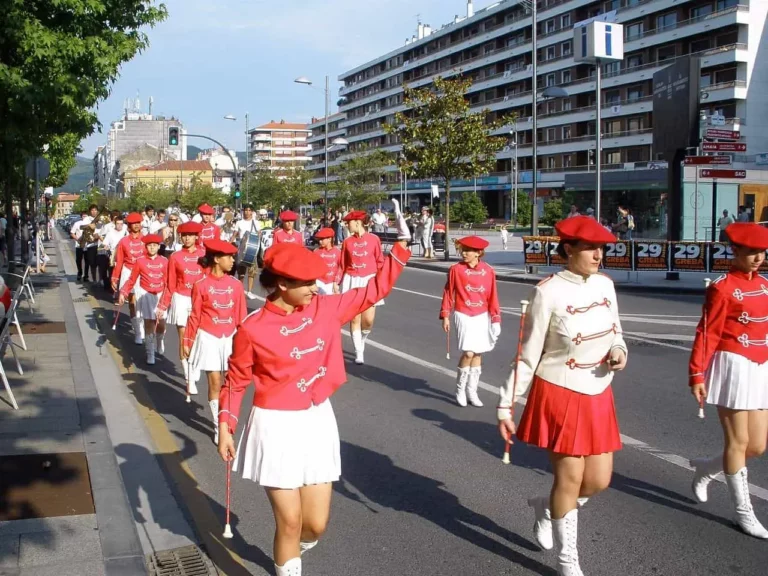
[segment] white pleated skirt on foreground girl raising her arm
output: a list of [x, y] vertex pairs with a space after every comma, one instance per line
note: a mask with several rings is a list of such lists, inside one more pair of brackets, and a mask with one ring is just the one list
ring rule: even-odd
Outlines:
[[330, 400], [307, 410], [254, 406], [233, 469], [261, 486], [285, 490], [337, 481], [341, 451]]

